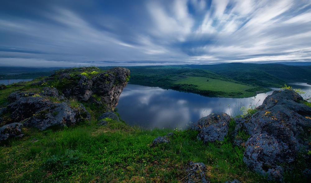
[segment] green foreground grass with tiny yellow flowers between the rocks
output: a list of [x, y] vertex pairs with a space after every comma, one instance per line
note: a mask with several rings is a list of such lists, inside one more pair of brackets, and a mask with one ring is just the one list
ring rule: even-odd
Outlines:
[[[33, 88], [31, 82], [0, 90], [0, 106], [6, 106], [7, 96], [17, 89], [40, 92], [44, 87]], [[234, 121], [224, 142], [203, 144], [195, 131], [147, 130], [110, 119], [107, 126], [99, 127], [96, 119], [102, 111], [84, 106], [91, 114], [90, 123], [45, 131], [23, 128], [24, 137], [2, 143], [0, 182], [182, 182], [189, 161], [205, 163], [211, 182], [267, 182], [248, 171], [242, 161], [244, 147], [232, 145]], [[175, 133], [169, 137], [171, 143], [150, 147], [154, 138], [169, 132]], [[248, 137], [239, 134], [244, 140]], [[295, 180], [291, 173], [285, 176]]]

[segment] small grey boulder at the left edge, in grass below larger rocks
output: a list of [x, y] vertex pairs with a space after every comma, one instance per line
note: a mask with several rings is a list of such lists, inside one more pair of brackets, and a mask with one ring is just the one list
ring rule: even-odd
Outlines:
[[0, 141], [13, 137], [22, 137], [24, 135], [21, 131], [22, 127], [23, 124], [21, 123], [11, 123], [2, 126], [0, 128]]

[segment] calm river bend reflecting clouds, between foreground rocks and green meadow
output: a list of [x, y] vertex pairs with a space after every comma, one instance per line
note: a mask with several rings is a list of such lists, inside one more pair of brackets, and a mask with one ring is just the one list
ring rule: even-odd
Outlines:
[[[305, 97], [311, 95], [311, 85], [290, 85], [293, 89], [301, 88], [307, 92]], [[184, 129], [191, 122], [211, 113], [226, 112], [231, 116], [242, 114], [242, 106], [259, 106], [270, 94], [272, 91], [249, 98], [205, 97], [171, 89], [128, 84], [120, 95], [117, 108], [121, 118], [129, 125], [150, 129]]]

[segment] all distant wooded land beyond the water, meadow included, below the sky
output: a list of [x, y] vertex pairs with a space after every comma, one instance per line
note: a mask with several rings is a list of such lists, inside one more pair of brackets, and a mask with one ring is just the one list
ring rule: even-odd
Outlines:
[[[111, 67], [99, 67], [107, 70]], [[130, 83], [176, 89], [202, 95], [248, 97], [290, 82], [311, 84], [311, 66], [224, 63], [215, 65], [129, 66]], [[60, 67], [0, 67], [0, 78], [49, 76]], [[13, 74], [12, 74], [13, 73]], [[225, 87], [224, 87], [225, 86]]]

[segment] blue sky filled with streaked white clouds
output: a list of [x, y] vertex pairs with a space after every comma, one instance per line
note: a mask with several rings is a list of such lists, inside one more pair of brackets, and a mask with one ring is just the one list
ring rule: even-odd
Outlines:
[[0, 66], [311, 62], [311, 0], [7, 0]]

